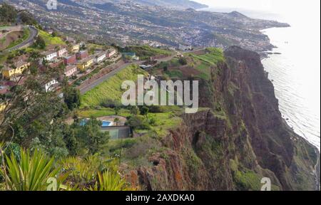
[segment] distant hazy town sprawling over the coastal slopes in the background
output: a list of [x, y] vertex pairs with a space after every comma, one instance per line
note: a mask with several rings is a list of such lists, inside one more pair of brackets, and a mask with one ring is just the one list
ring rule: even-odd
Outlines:
[[37, 3], [30, 0], [12, 2], [19, 9], [29, 9], [41, 24], [52, 26], [69, 36], [111, 41], [122, 46], [148, 44], [177, 47], [188, 43], [191, 46], [228, 48], [239, 45], [260, 52], [272, 49], [269, 39], [260, 30], [288, 26], [276, 21], [250, 19], [238, 12], [219, 14], [194, 9], [170, 9], [135, 1], [119, 1], [117, 4], [113, 1], [62, 1], [56, 10], [46, 9], [47, 1], [44, 0]]

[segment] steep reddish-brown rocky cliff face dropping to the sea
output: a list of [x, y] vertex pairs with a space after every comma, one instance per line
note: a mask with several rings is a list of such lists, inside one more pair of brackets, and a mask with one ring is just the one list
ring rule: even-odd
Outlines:
[[[320, 154], [282, 120], [260, 56], [236, 46], [200, 82], [200, 109], [128, 180], [148, 190], [314, 190]], [[320, 166], [320, 164], [319, 164]]]

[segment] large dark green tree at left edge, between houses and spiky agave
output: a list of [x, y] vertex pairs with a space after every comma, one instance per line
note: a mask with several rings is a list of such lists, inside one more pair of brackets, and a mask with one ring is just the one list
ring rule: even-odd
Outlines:
[[[32, 61], [39, 60], [36, 55], [29, 58], [31, 65]], [[11, 86], [10, 95], [1, 96], [6, 107], [0, 118], [0, 141], [16, 142], [26, 148], [34, 144], [43, 147], [47, 153], [66, 154], [60, 126], [68, 107], [56, 93], [44, 90], [48, 79], [56, 74], [38, 75], [27, 71], [29, 69]]]

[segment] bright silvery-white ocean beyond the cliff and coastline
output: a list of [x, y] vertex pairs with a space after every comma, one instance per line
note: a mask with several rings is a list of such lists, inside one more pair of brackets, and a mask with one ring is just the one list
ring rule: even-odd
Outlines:
[[239, 11], [255, 19], [290, 23], [289, 28], [262, 31], [277, 46], [272, 53], [280, 53], [263, 59], [263, 65], [275, 86], [282, 117], [298, 135], [320, 150], [320, 20], [316, 19], [320, 19], [320, 11], [300, 14], [295, 9], [279, 13], [231, 8], [206, 10]]

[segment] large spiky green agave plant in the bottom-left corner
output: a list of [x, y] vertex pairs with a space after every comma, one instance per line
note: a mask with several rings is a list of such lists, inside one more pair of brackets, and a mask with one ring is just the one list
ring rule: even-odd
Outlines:
[[49, 179], [56, 180], [56, 189], [60, 186], [64, 177], [56, 175], [59, 169], [54, 167], [54, 158], [49, 158], [44, 152], [35, 150], [30, 154], [29, 150], [21, 149], [21, 159], [17, 161], [14, 154], [6, 156], [6, 164], [1, 174], [6, 178], [7, 189], [12, 191], [44, 191], [48, 189]]

